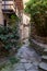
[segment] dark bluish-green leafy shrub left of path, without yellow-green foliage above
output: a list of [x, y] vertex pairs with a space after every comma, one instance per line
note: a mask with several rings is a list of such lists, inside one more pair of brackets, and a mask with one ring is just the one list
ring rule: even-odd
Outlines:
[[0, 42], [3, 44], [3, 46], [1, 47], [2, 50], [4, 49], [9, 51], [13, 47], [17, 50], [20, 35], [17, 35], [19, 31], [17, 32], [16, 31], [17, 27], [14, 29], [7, 27], [5, 31], [3, 26], [2, 27], [0, 26]]

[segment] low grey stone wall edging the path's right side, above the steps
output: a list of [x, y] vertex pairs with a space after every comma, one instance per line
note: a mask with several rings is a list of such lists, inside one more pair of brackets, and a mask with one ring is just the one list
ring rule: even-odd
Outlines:
[[36, 50], [36, 52], [38, 52], [39, 55], [42, 55], [44, 49], [47, 48], [47, 45], [40, 44], [35, 39], [31, 39], [30, 46], [31, 46], [31, 48], [34, 48]]

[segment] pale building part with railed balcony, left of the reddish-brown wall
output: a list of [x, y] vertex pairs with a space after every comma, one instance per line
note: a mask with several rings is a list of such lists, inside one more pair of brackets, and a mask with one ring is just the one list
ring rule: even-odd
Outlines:
[[1, 0], [0, 1], [0, 24], [8, 23], [9, 15], [15, 13], [13, 0]]

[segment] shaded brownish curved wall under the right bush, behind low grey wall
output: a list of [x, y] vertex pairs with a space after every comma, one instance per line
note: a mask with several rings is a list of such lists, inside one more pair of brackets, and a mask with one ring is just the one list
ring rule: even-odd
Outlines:
[[47, 44], [47, 37], [38, 36], [34, 25], [31, 26], [31, 37], [34, 38], [35, 40], [37, 40], [38, 43]]

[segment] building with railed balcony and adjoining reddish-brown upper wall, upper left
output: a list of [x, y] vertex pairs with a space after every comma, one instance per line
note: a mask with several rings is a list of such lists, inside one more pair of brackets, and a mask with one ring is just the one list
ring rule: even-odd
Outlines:
[[0, 0], [0, 24], [8, 23], [11, 14], [21, 16], [23, 10], [22, 0]]

